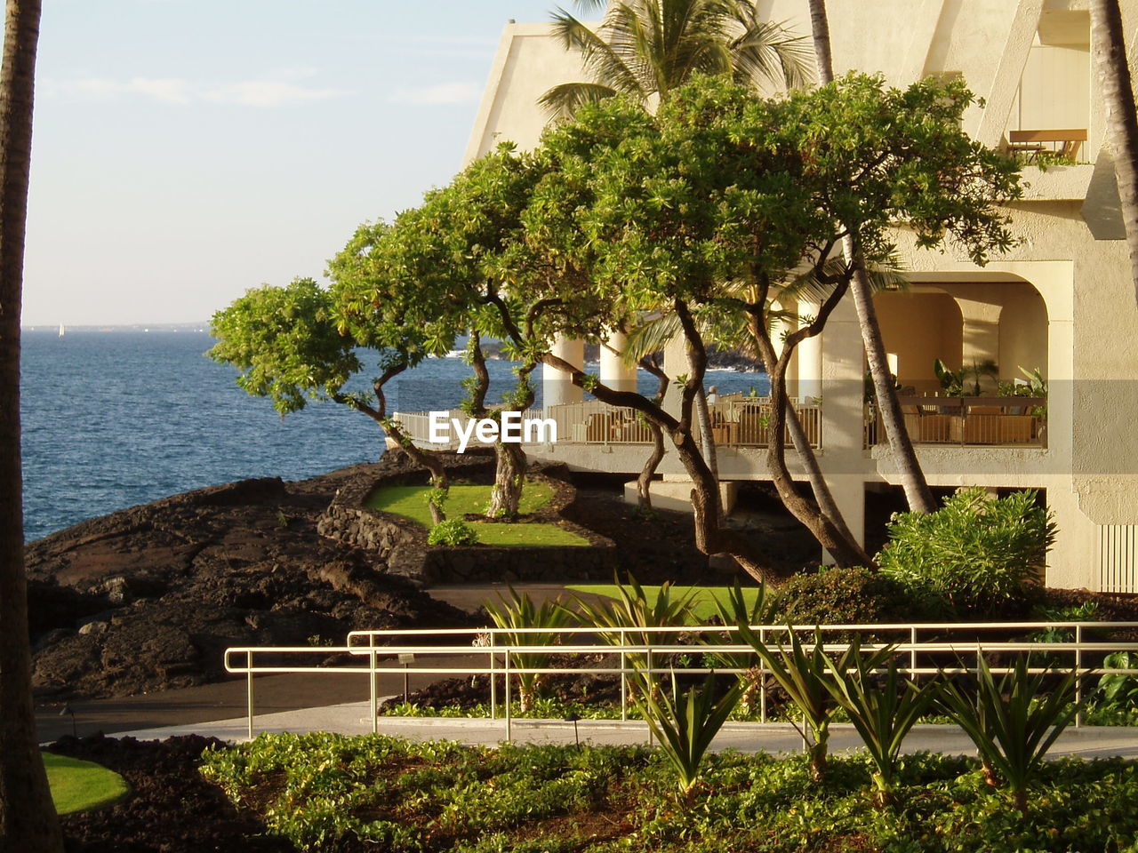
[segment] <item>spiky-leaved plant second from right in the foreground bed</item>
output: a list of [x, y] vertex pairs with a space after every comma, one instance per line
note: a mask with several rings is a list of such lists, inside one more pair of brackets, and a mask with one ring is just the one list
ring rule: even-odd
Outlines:
[[855, 639], [843, 665], [832, 668], [836, 678], [826, 681], [830, 694], [849, 715], [876, 768], [873, 782], [879, 808], [892, 804], [901, 744], [941, 690], [939, 680], [918, 686], [901, 676], [894, 652], [896, 646], [890, 645], [864, 653]]

